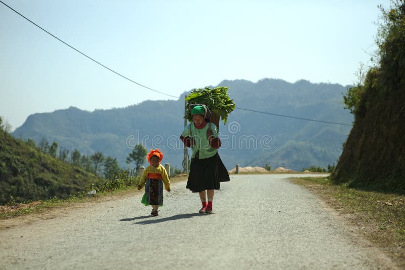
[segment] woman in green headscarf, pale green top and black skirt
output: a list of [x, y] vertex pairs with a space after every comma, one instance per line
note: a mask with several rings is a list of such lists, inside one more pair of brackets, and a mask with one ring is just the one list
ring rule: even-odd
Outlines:
[[207, 118], [207, 107], [194, 106], [191, 116], [193, 121], [180, 136], [184, 145], [192, 149], [186, 188], [199, 193], [203, 204], [199, 213], [211, 214], [214, 191], [220, 189], [220, 182], [229, 181], [229, 174], [218, 155], [221, 140], [218, 138], [217, 126]]

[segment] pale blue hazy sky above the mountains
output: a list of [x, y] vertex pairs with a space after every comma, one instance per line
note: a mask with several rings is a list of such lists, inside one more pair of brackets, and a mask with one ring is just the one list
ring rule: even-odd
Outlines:
[[[351, 84], [376, 50], [377, 6], [390, 3], [1, 1], [116, 72], [175, 97], [224, 79]], [[0, 115], [14, 128], [33, 113], [167, 99], [175, 98], [117, 76], [0, 3]]]

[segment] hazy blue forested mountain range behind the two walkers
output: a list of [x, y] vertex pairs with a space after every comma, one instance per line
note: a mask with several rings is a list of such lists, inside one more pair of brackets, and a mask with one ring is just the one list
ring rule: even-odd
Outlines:
[[[310, 122], [242, 109], [351, 124], [352, 116], [343, 109], [339, 84], [289, 83], [279, 79], [224, 80], [236, 107], [227, 125], [220, 122], [223, 147], [219, 153], [228, 169], [240, 166], [284, 166], [301, 170], [311, 165], [326, 167], [337, 161], [342, 143], [351, 126]], [[213, 86], [211, 86], [213, 87]], [[183, 96], [188, 94], [185, 92]], [[142, 143], [162, 149], [164, 163], [181, 168], [183, 145], [179, 136], [184, 128], [184, 99], [145, 101], [126, 108], [95, 110], [70, 107], [52, 113], [30, 115], [12, 134], [50, 143], [82, 154], [96, 151], [117, 157], [126, 168], [131, 147]]]

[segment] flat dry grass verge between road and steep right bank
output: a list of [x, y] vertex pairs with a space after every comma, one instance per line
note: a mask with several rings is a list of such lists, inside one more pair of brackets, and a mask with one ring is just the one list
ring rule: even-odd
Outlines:
[[405, 267], [405, 195], [336, 185], [329, 176], [294, 178], [293, 182], [318, 195], [356, 233]]

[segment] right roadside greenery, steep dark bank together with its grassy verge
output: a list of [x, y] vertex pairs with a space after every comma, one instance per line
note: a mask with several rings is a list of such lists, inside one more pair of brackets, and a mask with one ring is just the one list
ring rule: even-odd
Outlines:
[[331, 176], [295, 179], [405, 268], [405, 1], [380, 6], [374, 66], [343, 94], [354, 124]]

